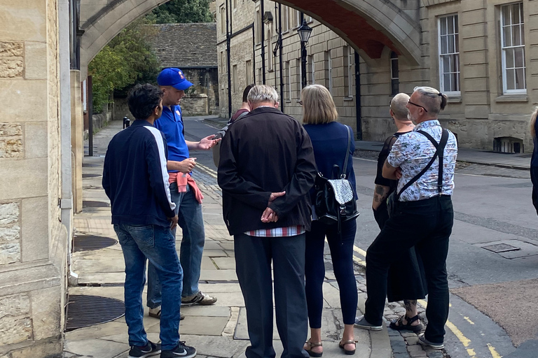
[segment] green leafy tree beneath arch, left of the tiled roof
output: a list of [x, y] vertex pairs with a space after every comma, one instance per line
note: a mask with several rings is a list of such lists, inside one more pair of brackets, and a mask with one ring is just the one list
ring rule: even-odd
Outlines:
[[136, 83], [155, 82], [159, 62], [145, 38], [152, 27], [146, 20], [133, 22], [112, 39], [88, 65], [93, 82], [93, 108], [99, 113], [113, 91], [125, 91]]

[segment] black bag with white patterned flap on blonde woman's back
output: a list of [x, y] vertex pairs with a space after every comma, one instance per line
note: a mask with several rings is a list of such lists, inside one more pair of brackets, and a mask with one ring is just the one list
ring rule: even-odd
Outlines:
[[327, 179], [322, 173], [317, 173], [314, 184], [314, 210], [315, 214], [317, 215], [317, 220], [323, 224], [338, 224], [339, 232], [340, 222], [352, 220], [359, 216], [351, 183], [346, 178], [347, 160], [349, 159], [350, 145], [352, 140], [350, 128], [347, 126], [346, 128], [347, 151], [345, 152], [342, 173], [340, 173], [340, 167], [335, 164], [333, 165], [333, 170], [336, 169], [338, 172], [338, 179]]

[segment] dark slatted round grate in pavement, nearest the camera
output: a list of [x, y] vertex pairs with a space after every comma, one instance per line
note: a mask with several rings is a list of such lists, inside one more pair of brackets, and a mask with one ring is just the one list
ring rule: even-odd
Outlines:
[[125, 304], [118, 299], [73, 294], [67, 304], [65, 331], [106, 323], [125, 315]]

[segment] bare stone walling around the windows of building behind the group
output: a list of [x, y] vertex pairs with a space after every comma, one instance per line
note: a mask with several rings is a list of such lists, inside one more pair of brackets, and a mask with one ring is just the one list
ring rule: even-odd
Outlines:
[[[460, 51], [460, 95], [450, 94], [446, 110], [439, 119], [458, 136], [462, 147], [492, 150], [494, 138], [511, 136], [520, 138], [525, 152], [532, 150], [532, 138], [527, 131], [527, 122], [533, 107], [538, 103], [538, 51], [532, 34], [538, 29], [534, 17], [538, 15], [537, 1], [523, 0], [523, 20], [525, 22], [525, 80], [527, 90], [523, 94], [503, 94], [501, 48], [499, 38], [499, 12], [509, 0], [492, 1], [399, 1], [389, 0], [392, 6], [401, 9], [406, 17], [415, 22], [421, 31], [420, 61], [400, 55], [399, 92], [411, 94], [418, 85], [440, 87], [439, 78], [439, 16], [457, 14], [459, 19]], [[217, 7], [217, 43], [219, 52], [220, 115], [228, 116], [228, 69], [226, 64], [226, 34], [223, 32], [219, 8]], [[238, 2], [232, 13], [232, 32], [254, 22], [258, 3]], [[285, 7], [283, 6], [283, 9]], [[279, 58], [273, 59], [270, 69], [269, 56], [277, 41], [277, 15], [275, 3], [265, 1], [265, 11], [273, 14], [273, 22], [265, 28], [265, 83], [275, 86], [280, 93]], [[287, 10], [296, 16], [295, 10]], [[322, 15], [322, 14], [318, 14]], [[331, 59], [331, 79], [333, 99], [338, 109], [340, 122], [357, 130], [356, 94], [354, 89], [354, 66], [348, 76], [347, 65], [352, 58], [347, 56], [349, 45], [343, 38], [316, 20], [309, 22], [312, 36], [307, 45], [308, 83], [314, 64], [315, 83], [329, 87], [329, 58]], [[256, 28], [259, 25], [256, 24]], [[268, 31], [273, 35], [268, 38]], [[301, 106], [298, 105], [301, 80], [301, 53], [296, 28], [284, 32], [283, 72], [284, 72], [284, 113], [301, 120]], [[259, 42], [259, 41], [258, 41]], [[232, 111], [240, 106], [242, 88], [247, 85], [246, 63], [255, 62], [256, 83], [261, 83], [261, 43], [252, 50], [252, 32], [242, 32], [230, 41], [230, 73], [234, 66], [239, 85], [232, 80]], [[364, 140], [383, 141], [394, 131], [389, 117], [389, 100], [392, 98], [390, 55], [392, 50], [385, 47], [378, 59], [360, 59], [361, 83], [361, 127]], [[348, 87], [352, 83], [351, 88]], [[237, 88], [238, 87], [238, 88]]]

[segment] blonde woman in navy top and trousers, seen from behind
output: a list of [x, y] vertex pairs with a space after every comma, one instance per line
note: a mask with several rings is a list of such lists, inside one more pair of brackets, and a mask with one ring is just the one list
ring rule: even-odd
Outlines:
[[[312, 140], [317, 171], [324, 177], [333, 177], [333, 166], [336, 164], [342, 170], [348, 148], [348, 129], [337, 122], [338, 112], [329, 90], [322, 85], [310, 85], [301, 92], [303, 106], [303, 124]], [[347, 172], [344, 173], [350, 181], [354, 199], [357, 200], [355, 174], [353, 171], [353, 152], [355, 150], [353, 135], [351, 135], [350, 151], [347, 159]], [[339, 173], [335, 175], [339, 176]], [[313, 191], [310, 191], [313, 196]], [[313, 198], [312, 198], [313, 199]], [[312, 201], [313, 202], [313, 201]], [[344, 332], [339, 345], [347, 355], [355, 352], [353, 324], [357, 311], [357, 281], [353, 271], [353, 244], [357, 222], [347, 220], [338, 224], [327, 225], [312, 218], [312, 229], [306, 232], [305, 250], [305, 290], [310, 322], [310, 339], [305, 343], [305, 350], [311, 357], [322, 357], [322, 310], [323, 310], [323, 280], [325, 276], [324, 246], [325, 237], [331, 249], [334, 275], [340, 289], [340, 303], [344, 321]]]

